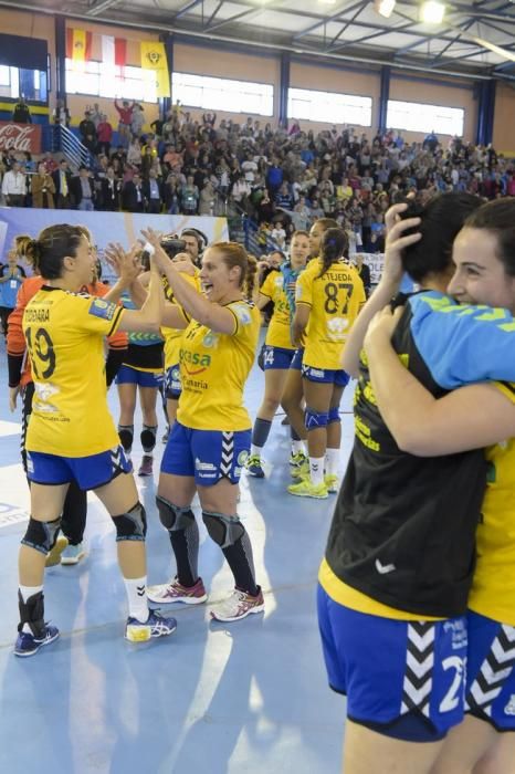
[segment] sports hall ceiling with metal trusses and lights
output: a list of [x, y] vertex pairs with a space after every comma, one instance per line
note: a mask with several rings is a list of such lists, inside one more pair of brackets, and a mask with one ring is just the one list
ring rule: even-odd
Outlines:
[[421, 0], [398, 1], [389, 19], [371, 0], [0, 0], [0, 7], [168, 30], [178, 41], [190, 35], [434, 74], [515, 80], [515, 0], [442, 2], [440, 24], [420, 21]]

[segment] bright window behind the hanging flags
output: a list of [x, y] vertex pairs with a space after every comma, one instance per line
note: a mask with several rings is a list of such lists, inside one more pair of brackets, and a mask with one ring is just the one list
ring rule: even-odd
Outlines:
[[114, 100], [157, 102], [156, 75], [151, 70], [104, 62], [74, 63], [66, 60], [67, 94], [91, 94]]

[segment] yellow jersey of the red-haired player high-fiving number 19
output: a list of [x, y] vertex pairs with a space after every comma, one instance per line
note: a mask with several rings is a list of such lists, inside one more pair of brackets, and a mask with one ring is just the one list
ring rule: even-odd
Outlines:
[[180, 343], [182, 393], [178, 421], [193, 430], [248, 430], [243, 387], [255, 356], [261, 315], [248, 301], [225, 306], [234, 316], [232, 334], [214, 333], [195, 321]]

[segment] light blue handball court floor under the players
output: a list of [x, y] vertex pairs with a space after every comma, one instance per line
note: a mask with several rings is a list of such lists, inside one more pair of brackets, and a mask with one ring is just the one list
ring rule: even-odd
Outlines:
[[[282, 417], [265, 449], [266, 479], [244, 474], [241, 481], [239, 513], [252, 538], [264, 615], [210, 623], [210, 605], [230, 592], [232, 576], [199, 520], [207, 606], [168, 606], [178, 621], [171, 637], [140, 646], [125, 641], [114, 527], [90, 495], [86, 558], [46, 571], [45, 617], [61, 637], [18, 659], [17, 558], [29, 496], [19, 462], [20, 415], [8, 408], [3, 341], [0, 377], [0, 772], [336, 774], [345, 700], [326, 684], [315, 609], [335, 496], [317, 501], [285, 492], [290, 446]], [[263, 375], [254, 366], [246, 389], [252, 418], [262, 390]], [[350, 385], [341, 407], [341, 469], [353, 440], [351, 393]], [[109, 404], [117, 419], [113, 388]], [[162, 449], [159, 442], [154, 479], [137, 479], [148, 517], [149, 584], [172, 574], [154, 502]]]

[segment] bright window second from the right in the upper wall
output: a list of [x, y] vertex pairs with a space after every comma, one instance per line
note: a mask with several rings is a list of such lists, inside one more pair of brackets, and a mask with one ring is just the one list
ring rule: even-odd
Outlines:
[[371, 97], [356, 94], [290, 88], [288, 117], [326, 124], [371, 126], [372, 101]]

